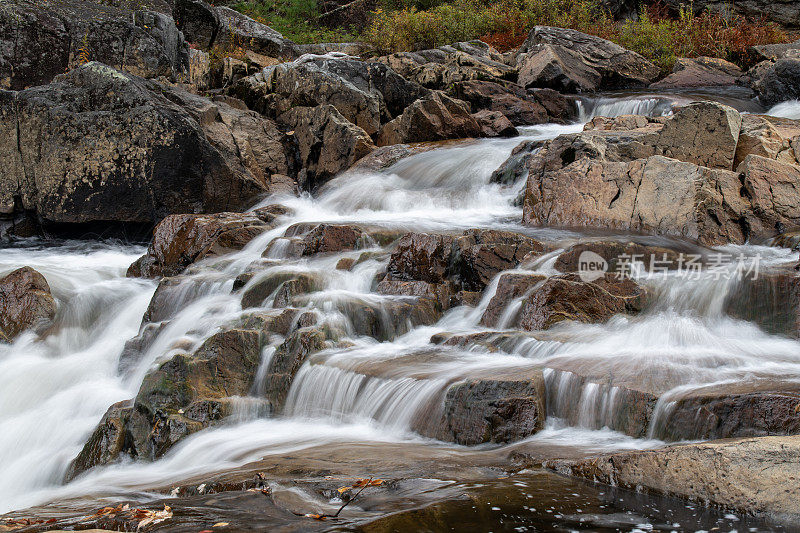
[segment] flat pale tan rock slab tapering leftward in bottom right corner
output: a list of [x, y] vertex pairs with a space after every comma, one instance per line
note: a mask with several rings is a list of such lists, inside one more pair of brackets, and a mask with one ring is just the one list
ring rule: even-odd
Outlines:
[[713, 503], [726, 509], [800, 517], [795, 465], [800, 437], [760, 437], [548, 461], [563, 474]]

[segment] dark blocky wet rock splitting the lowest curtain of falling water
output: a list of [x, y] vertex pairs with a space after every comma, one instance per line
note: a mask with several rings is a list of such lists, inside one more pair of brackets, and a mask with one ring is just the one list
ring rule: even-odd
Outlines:
[[468, 379], [447, 390], [436, 438], [462, 445], [507, 443], [544, 427], [544, 379], [528, 376]]

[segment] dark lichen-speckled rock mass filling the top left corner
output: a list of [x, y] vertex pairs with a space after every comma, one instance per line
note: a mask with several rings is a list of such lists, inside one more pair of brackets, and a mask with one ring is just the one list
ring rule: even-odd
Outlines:
[[[171, 17], [91, 0], [4, 2], [0, 7], [0, 87], [49, 83], [87, 61], [145, 78], [175, 79], [189, 52]], [[145, 8], [145, 9], [142, 9]]]

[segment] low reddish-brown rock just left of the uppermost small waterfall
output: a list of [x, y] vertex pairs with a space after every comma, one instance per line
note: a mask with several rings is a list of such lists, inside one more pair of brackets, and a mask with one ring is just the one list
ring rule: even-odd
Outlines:
[[548, 122], [548, 112], [536, 101], [525, 98], [522, 87], [491, 81], [470, 80], [453, 85], [448, 94], [468, 102], [473, 111], [488, 110], [500, 112], [514, 126], [526, 126]]

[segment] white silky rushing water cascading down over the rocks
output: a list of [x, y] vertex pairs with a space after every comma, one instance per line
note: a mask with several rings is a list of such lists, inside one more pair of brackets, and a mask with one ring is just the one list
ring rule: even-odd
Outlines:
[[[669, 112], [670, 102], [669, 96], [610, 98], [584, 103], [582, 118], [660, 115]], [[800, 102], [781, 104], [771, 113], [800, 118]], [[351, 271], [335, 265], [365, 250], [302, 259], [286, 255], [284, 233], [298, 222], [350, 222], [398, 231], [510, 229], [563, 248], [580, 235], [520, 225], [522, 209], [516, 200], [524, 177], [503, 186], [489, 183], [489, 176], [521, 141], [581, 129], [581, 124], [523, 128], [518, 138], [445, 146], [381, 173], [346, 173], [313, 198], [265, 200], [264, 205], [281, 203], [293, 214], [242, 251], [191, 266], [171, 293], [175, 314], [169, 325], [137, 361], [122, 366], [123, 345], [139, 333], [156, 288], [156, 282], [125, 277], [144, 247], [31, 242], [2, 250], [0, 274], [23, 265], [35, 268], [49, 282], [59, 310], [42, 340], [29, 333], [11, 345], [0, 344], [0, 513], [69, 497], [112, 497], [169, 486], [323, 444], [427, 446], [466, 453], [421, 437], [417, 429], [441, 405], [448, 385], [504, 369], [547, 369], [548, 427], [529, 442], [588, 451], [662, 445], [664, 417], [686, 390], [743, 379], [800, 380], [800, 342], [726, 314], [723, 304], [738, 282], [736, 276], [648, 276], [642, 283], [657, 296], [641, 316], [616, 317], [602, 325], [563, 325], [541, 336], [511, 336], [502, 351], [489, 353], [436, 346], [431, 337], [485, 329], [479, 320], [496, 280], [476, 308], [454, 308], [433, 326], [388, 331], [387, 340], [379, 342], [353, 333], [347, 309], [353, 302], [380, 308], [395, 298], [370, 290], [388, 261], [380, 247], [366, 250], [375, 252], [373, 258]], [[760, 254], [766, 266], [796, 259], [784, 249], [728, 248], [730, 253]], [[519, 268], [549, 274], [553, 257]], [[352, 346], [318, 353], [304, 364], [289, 391], [284, 417], [265, 418], [257, 402], [242, 398], [241, 409], [228, 423], [187, 438], [156, 462], [95, 468], [64, 485], [69, 462], [109, 405], [134, 397], [155, 363], [199, 346], [243, 314], [231, 289], [236, 276], [254, 262], [262, 264], [262, 276], [314, 274], [321, 287], [308, 295], [306, 310], [317, 315], [318, 324], [348, 332]], [[263, 368], [278, 344], [276, 338], [264, 351]], [[660, 399], [647, 436], [634, 438], [616, 427], [617, 387], [584, 383], [571, 369], [584, 375], [610, 373], [615, 383], [637, 383], [654, 391]], [[253, 391], [255, 397], [260, 394]]]

